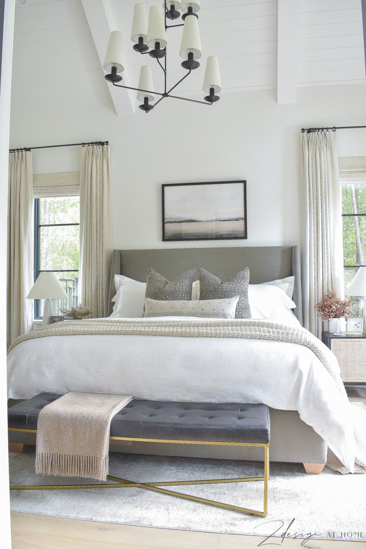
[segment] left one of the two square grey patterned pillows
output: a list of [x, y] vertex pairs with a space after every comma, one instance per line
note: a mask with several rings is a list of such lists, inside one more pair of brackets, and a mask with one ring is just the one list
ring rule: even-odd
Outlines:
[[184, 275], [169, 282], [164, 276], [159, 275], [151, 267], [146, 275], [145, 298], [162, 301], [190, 300], [192, 294], [192, 282], [195, 269], [187, 271]]

